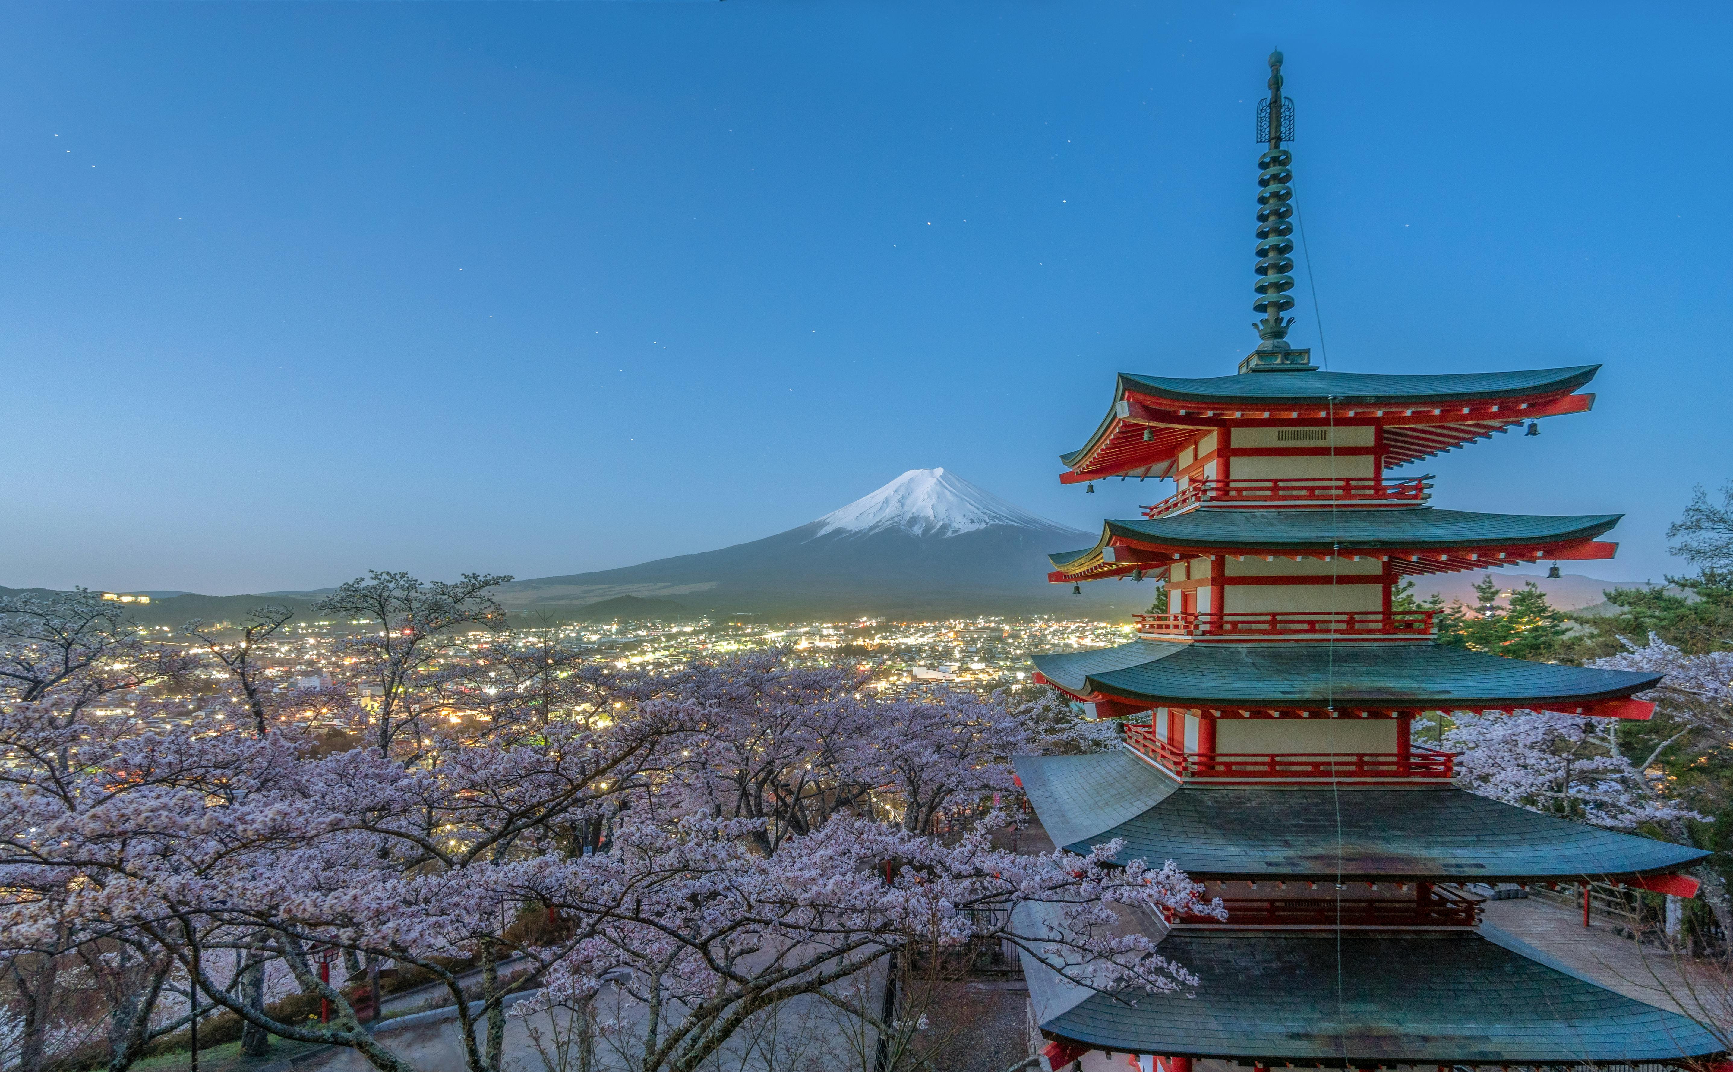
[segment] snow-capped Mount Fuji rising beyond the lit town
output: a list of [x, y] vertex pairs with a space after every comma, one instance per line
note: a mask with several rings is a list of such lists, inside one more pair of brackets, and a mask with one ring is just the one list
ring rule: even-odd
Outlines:
[[1094, 540], [955, 473], [910, 469], [799, 528], [619, 570], [516, 580], [501, 603], [530, 613], [584, 604], [626, 617], [634, 608], [835, 618], [1144, 610], [1149, 585], [1085, 585], [1078, 597], [1047, 582], [1048, 552]]

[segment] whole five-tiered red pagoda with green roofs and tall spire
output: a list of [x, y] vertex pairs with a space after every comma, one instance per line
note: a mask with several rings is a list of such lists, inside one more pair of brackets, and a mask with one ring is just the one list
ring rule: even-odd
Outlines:
[[[1036, 679], [1120, 750], [1019, 757], [1055, 845], [1120, 838], [1175, 861], [1227, 921], [1151, 921], [1194, 996], [1104, 994], [1026, 954], [1052, 1069], [1584, 1067], [1724, 1060], [1676, 1013], [1603, 989], [1482, 921], [1480, 883], [1586, 883], [1691, 895], [1705, 852], [1499, 804], [1452, 785], [1423, 746], [1430, 712], [1551, 710], [1646, 719], [1658, 675], [1442, 646], [1405, 577], [1612, 558], [1619, 514], [1428, 506], [1412, 464], [1563, 414], [1596, 365], [1459, 376], [1317, 369], [1288, 343], [1293, 102], [1270, 55], [1260, 106], [1256, 324], [1236, 376], [1121, 374], [1068, 483], [1163, 476], [1177, 494], [1106, 521], [1050, 578], [1161, 578], [1166, 613], [1120, 648], [1038, 656]], [[1094, 488], [1092, 488], [1094, 490]], [[1146, 717], [1147, 712], [1147, 717]], [[1035, 909], [1029, 909], [1035, 911]]]

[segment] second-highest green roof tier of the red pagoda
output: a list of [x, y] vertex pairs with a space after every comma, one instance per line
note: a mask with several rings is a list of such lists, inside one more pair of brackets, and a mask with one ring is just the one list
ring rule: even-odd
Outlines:
[[[1277, 372], [1265, 372], [1277, 376]], [[1298, 376], [1298, 372], [1295, 372]], [[1404, 509], [1210, 509], [1151, 520], [1104, 521], [1094, 547], [1050, 554], [1048, 561], [1066, 580], [1085, 580], [1092, 572], [1125, 572], [1123, 563], [1104, 561], [1109, 546], [1132, 546], [1165, 552], [1198, 551], [1286, 551], [1348, 554], [1468, 551], [1503, 547], [1523, 558], [1610, 556], [1610, 547], [1586, 544], [1619, 523], [1624, 514], [1480, 514], [1459, 509], [1414, 506]], [[1572, 546], [1584, 547], [1572, 547]], [[1146, 563], [1147, 565], [1147, 563]], [[1456, 554], [1416, 556], [1393, 563], [1399, 572], [1477, 570], [1489, 563]]]

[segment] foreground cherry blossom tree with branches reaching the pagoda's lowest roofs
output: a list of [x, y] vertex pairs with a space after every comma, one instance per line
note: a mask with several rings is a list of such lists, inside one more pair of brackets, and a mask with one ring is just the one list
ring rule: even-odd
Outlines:
[[[613, 980], [636, 1013], [615, 1020], [634, 1034], [633, 1063], [686, 1072], [752, 1015], [797, 996], [889, 1030], [865, 991], [839, 984], [918, 942], [1003, 939], [1081, 985], [1135, 994], [1198, 980], [1125, 928], [1121, 911], [1223, 916], [1172, 864], [1109, 866], [1118, 845], [1090, 857], [1016, 856], [990, 847], [990, 826], [941, 845], [837, 816], [763, 856], [742, 836], [754, 824], [688, 816], [674, 828], [633, 826], [617, 852], [537, 875], [523, 897], [594, 925], [520, 1011], [593, 1003]], [[1052, 906], [1062, 925], [1019, 914], [1026, 904]]]

